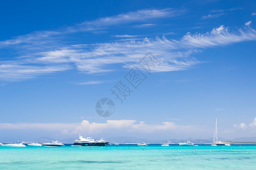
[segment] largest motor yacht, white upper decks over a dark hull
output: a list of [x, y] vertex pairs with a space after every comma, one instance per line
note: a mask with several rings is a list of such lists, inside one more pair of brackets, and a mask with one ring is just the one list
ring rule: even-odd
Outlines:
[[79, 135], [79, 139], [75, 140], [72, 146], [106, 146], [109, 142], [106, 142], [104, 139], [95, 140], [93, 138], [87, 137], [84, 138], [82, 135]]

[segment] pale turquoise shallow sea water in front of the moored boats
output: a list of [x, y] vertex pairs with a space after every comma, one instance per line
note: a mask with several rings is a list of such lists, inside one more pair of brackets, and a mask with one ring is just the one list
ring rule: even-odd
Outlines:
[[0, 147], [0, 169], [89, 168], [256, 169], [256, 145]]

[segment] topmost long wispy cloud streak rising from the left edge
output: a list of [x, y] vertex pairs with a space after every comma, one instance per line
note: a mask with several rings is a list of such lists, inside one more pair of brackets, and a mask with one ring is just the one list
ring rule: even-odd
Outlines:
[[[185, 10], [174, 10], [172, 8], [164, 8], [160, 10], [146, 9], [126, 14], [119, 14], [105, 18], [99, 18], [92, 21], [86, 21], [76, 24], [72, 27], [61, 28], [56, 31], [36, 31], [27, 35], [17, 36], [14, 39], [0, 41], [0, 48], [16, 45], [16, 44], [30, 44], [36, 43], [37, 45], [56, 44], [56, 40], [63, 38], [63, 35], [75, 32], [102, 32], [99, 30], [108, 29], [110, 26], [127, 24], [132, 22], [143, 22], [148, 19], [159, 18], [174, 18], [185, 14]], [[42, 41], [43, 40], [43, 41]], [[54, 41], [53, 41], [54, 40]]]

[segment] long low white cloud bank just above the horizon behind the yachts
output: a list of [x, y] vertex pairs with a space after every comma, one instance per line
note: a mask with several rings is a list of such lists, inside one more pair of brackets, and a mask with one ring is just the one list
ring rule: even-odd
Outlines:
[[[204, 128], [203, 128], [204, 127]], [[86, 135], [105, 135], [109, 136], [112, 134], [115, 137], [118, 136], [133, 136], [141, 137], [152, 136], [152, 135], [162, 135], [162, 137], [167, 138], [170, 135], [176, 135], [176, 137], [191, 137], [192, 134], [208, 134], [208, 129], [205, 126], [197, 125], [179, 125], [174, 122], [162, 122], [160, 124], [146, 124], [143, 121], [136, 120], [107, 120], [106, 122], [89, 122], [88, 120], [83, 120], [81, 124], [61, 124], [61, 123], [16, 123], [16, 124], [0, 124], [0, 130], [10, 131], [22, 130], [23, 134], [28, 133], [31, 129], [33, 131], [44, 132], [63, 137], [73, 137], [77, 134], [86, 133]], [[199, 133], [200, 131], [200, 133]], [[212, 129], [210, 129], [212, 131]], [[206, 133], [207, 132], [207, 133]], [[166, 135], [166, 134], [170, 135]], [[208, 136], [208, 135], [207, 135]], [[172, 136], [173, 137], [173, 136]]]

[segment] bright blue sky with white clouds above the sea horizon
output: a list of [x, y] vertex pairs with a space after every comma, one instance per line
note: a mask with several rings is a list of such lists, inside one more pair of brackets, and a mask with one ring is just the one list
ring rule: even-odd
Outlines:
[[[8, 1], [0, 5], [0, 134], [255, 137], [254, 1]], [[138, 63], [150, 52], [151, 74]], [[121, 104], [133, 66], [147, 76]], [[102, 97], [115, 112], [102, 118]]]

